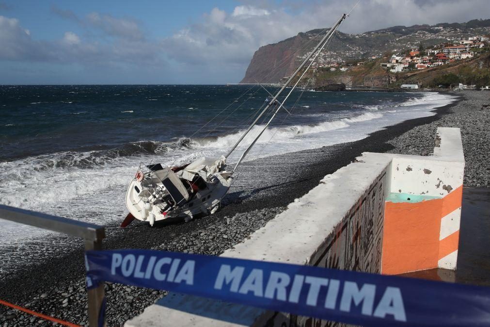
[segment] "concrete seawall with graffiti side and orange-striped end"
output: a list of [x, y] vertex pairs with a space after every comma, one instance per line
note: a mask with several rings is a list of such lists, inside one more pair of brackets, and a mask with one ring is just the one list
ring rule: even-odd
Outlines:
[[[455, 269], [464, 155], [439, 128], [432, 156], [365, 152], [222, 254], [381, 274]], [[171, 293], [127, 327], [330, 326], [308, 317]]]

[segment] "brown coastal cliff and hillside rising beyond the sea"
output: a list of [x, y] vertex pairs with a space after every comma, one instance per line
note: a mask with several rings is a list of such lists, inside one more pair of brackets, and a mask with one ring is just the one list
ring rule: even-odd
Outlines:
[[[313, 50], [319, 36], [324, 35], [326, 31], [314, 29], [298, 33], [294, 37], [259, 48], [255, 51], [241, 83], [284, 82], [285, 77], [294, 73], [294, 69], [304, 60], [308, 51]], [[338, 72], [338, 69], [331, 72], [329, 68], [314, 65], [312, 74], [307, 74], [309, 85], [321, 87], [344, 83], [348, 88], [361, 85], [367, 87], [393, 85], [400, 78], [381, 69], [379, 63], [382, 61], [374, 58], [382, 58], [387, 53], [418, 48], [420, 44], [429, 47], [478, 33], [490, 33], [490, 20], [474, 20], [461, 24], [442, 23], [432, 26], [393, 26], [359, 34], [337, 32], [328, 50], [320, 53], [320, 59], [317, 61], [325, 64], [343, 61], [351, 65], [365, 61], [365, 65], [368, 64], [369, 67], [355, 67], [357, 72], [350, 70]]]

